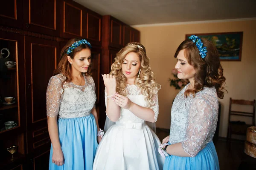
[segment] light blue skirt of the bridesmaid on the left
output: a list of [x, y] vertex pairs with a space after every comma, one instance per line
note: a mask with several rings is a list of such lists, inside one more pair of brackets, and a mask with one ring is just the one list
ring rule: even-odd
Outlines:
[[58, 119], [58, 131], [64, 165], [52, 163], [52, 146], [49, 170], [92, 170], [96, 153], [97, 125], [92, 114], [80, 118]]

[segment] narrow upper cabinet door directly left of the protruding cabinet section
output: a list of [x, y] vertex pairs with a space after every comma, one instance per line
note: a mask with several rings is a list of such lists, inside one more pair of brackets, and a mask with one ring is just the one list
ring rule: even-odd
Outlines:
[[[101, 26], [102, 26], [102, 16], [96, 12], [88, 10], [87, 12], [87, 32], [83, 32], [83, 37], [96, 46], [101, 46]], [[84, 34], [86, 33], [86, 35]]]

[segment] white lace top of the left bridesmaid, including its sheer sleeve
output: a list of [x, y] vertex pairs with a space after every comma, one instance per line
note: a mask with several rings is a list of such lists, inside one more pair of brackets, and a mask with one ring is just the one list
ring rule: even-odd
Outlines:
[[65, 82], [63, 92], [61, 84], [65, 79], [65, 76], [58, 74], [49, 80], [46, 92], [47, 116], [59, 114], [59, 118], [79, 118], [90, 115], [96, 101], [93, 78], [84, 75], [84, 86]]

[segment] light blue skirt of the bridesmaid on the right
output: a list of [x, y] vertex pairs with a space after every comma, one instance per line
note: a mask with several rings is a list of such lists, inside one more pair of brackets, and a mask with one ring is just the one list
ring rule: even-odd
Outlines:
[[219, 170], [218, 156], [213, 142], [201, 150], [195, 157], [168, 156], [163, 170]]

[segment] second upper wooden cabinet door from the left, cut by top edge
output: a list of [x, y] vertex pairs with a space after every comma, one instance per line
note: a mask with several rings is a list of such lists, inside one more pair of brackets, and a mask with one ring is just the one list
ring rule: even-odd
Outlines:
[[59, 36], [58, 0], [23, 0], [23, 7], [24, 29]]

